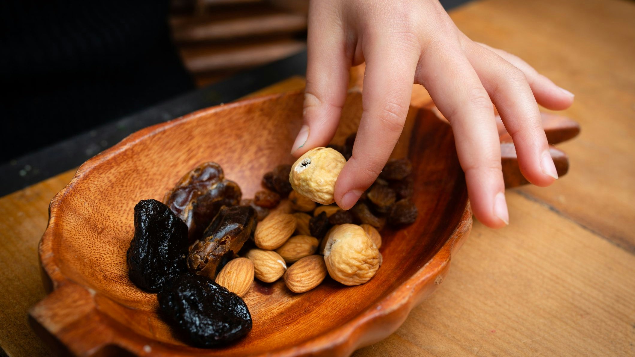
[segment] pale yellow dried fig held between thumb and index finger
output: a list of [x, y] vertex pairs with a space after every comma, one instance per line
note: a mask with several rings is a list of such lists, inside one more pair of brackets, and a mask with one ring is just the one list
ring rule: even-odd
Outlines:
[[341, 153], [332, 148], [314, 148], [291, 166], [289, 181], [300, 195], [323, 205], [335, 202], [335, 181], [346, 164]]

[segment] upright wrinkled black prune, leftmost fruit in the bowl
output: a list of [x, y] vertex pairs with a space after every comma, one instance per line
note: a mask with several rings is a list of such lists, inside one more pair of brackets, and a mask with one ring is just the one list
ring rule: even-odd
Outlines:
[[138, 287], [160, 290], [187, 268], [187, 225], [157, 200], [135, 205], [135, 237], [126, 252], [128, 276]]

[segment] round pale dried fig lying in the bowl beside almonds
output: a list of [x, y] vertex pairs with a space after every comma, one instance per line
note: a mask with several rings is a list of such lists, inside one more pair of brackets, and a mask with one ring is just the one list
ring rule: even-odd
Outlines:
[[342, 224], [335, 228], [324, 247], [328, 274], [344, 285], [368, 282], [380, 265], [380, 254], [363, 228]]

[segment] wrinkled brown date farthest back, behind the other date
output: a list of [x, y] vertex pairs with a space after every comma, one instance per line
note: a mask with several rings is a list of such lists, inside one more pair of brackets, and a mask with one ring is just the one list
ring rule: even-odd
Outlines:
[[183, 176], [163, 201], [187, 224], [192, 242], [201, 238], [220, 207], [239, 204], [241, 196], [220, 165], [206, 162]]

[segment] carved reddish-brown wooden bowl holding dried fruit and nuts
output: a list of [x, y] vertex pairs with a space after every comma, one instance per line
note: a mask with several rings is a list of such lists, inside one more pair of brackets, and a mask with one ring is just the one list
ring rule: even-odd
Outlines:
[[[411, 108], [394, 152], [413, 161], [419, 216], [403, 230], [384, 231], [384, 263], [370, 282], [345, 287], [327, 277], [304, 294], [281, 281], [255, 282], [244, 297], [250, 334], [231, 346], [198, 349], [159, 318], [156, 294], [128, 279], [135, 204], [161, 200], [206, 161], [218, 162], [243, 197], [253, 197], [265, 172], [293, 162], [302, 98], [276, 94], [200, 110], [131, 134], [84, 163], [51, 201], [39, 257], [52, 292], [30, 315], [81, 356], [347, 356], [394, 332], [443, 282], [472, 226], [450, 126], [427, 109]], [[355, 131], [360, 117], [361, 93], [351, 91], [334, 142]]]

